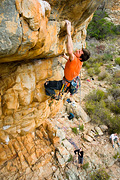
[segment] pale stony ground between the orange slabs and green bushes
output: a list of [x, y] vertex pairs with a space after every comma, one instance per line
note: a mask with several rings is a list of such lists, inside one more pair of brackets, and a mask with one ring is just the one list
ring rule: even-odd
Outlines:
[[[85, 70], [82, 70], [82, 77], [85, 75]], [[71, 160], [69, 165], [72, 164], [73, 172], [77, 171], [76, 177], [80, 180], [86, 180], [90, 178], [90, 173], [96, 169], [105, 168], [106, 172], [111, 176], [111, 180], [120, 180], [120, 159], [114, 158], [117, 153], [120, 153], [120, 148], [115, 145], [113, 149], [109, 142], [109, 134], [106, 126], [99, 126], [99, 124], [92, 124], [88, 119], [86, 113], [81, 106], [84, 108], [84, 97], [93, 89], [107, 88], [106, 82], [97, 81], [97, 78], [91, 80], [82, 79], [81, 93], [72, 97], [72, 102], [68, 103], [66, 100], [69, 98], [65, 97], [64, 108], [59, 112], [55, 118], [50, 119], [52, 124], [57, 129], [57, 135], [60, 137], [61, 144], [69, 149], [69, 153], [74, 157], [74, 150], [78, 147], [84, 149], [84, 164], [89, 163], [89, 167], [84, 169], [77, 169], [74, 164], [74, 160]], [[81, 95], [80, 95], [81, 94]], [[68, 119], [69, 113], [72, 112], [75, 117], [72, 120]], [[82, 118], [80, 118], [80, 114]], [[83, 118], [84, 116], [84, 118]], [[84, 130], [79, 131], [79, 125], [84, 125]], [[78, 135], [72, 132], [72, 128], [78, 129]], [[69, 146], [67, 145], [69, 144]], [[71, 146], [71, 145], [72, 146]], [[64, 153], [63, 153], [64, 154]], [[58, 161], [60, 159], [58, 158]], [[69, 166], [68, 165], [68, 166]], [[76, 171], [75, 171], [76, 170]], [[69, 174], [69, 173], [68, 173]], [[64, 179], [64, 178], [63, 178]], [[69, 179], [77, 179], [71, 175]]]

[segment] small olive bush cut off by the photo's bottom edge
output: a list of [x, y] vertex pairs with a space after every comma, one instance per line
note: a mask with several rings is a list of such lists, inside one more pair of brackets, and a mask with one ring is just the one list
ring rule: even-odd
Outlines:
[[93, 174], [91, 174], [91, 180], [109, 180], [110, 176], [105, 171], [105, 169], [99, 169]]

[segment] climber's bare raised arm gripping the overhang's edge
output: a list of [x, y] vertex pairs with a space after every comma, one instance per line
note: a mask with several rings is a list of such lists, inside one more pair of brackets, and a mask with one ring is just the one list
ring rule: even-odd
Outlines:
[[73, 54], [73, 42], [71, 37], [71, 22], [68, 20], [65, 20], [66, 22], [66, 29], [67, 29], [67, 52], [69, 55], [70, 61], [74, 60], [74, 54]]

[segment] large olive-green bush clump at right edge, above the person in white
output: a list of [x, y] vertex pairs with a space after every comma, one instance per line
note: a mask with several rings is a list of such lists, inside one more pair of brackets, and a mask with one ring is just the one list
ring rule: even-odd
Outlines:
[[[110, 95], [111, 100], [108, 98]], [[110, 133], [120, 133], [119, 87], [113, 86], [107, 93], [101, 90], [93, 90], [93, 92], [86, 97], [85, 105], [92, 122], [107, 125]]]

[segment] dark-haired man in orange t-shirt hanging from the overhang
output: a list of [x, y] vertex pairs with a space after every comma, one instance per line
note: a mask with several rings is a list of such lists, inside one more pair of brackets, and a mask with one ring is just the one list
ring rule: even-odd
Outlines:
[[59, 92], [70, 92], [71, 95], [76, 93], [77, 88], [80, 86], [79, 73], [82, 68], [83, 62], [87, 61], [90, 57], [90, 52], [86, 48], [77, 50], [73, 53], [73, 42], [71, 37], [71, 22], [65, 20], [67, 31], [67, 53], [64, 58], [67, 59], [63, 80], [59, 81], [46, 81], [44, 84], [46, 95], [51, 96], [53, 99], [59, 100], [59, 96], [55, 94], [55, 90]]

